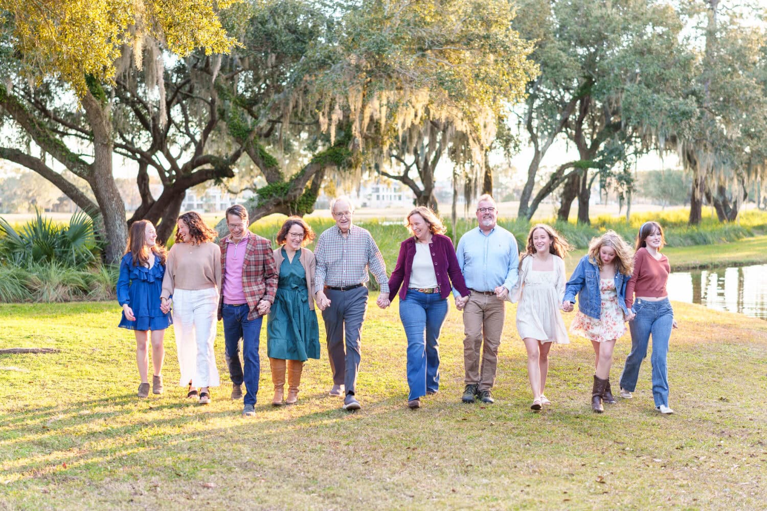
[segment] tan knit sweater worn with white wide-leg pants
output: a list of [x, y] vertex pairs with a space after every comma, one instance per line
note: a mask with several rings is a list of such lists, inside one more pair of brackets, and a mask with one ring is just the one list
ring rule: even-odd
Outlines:
[[221, 290], [221, 249], [215, 243], [176, 243], [170, 247], [163, 277], [163, 298], [173, 290]]

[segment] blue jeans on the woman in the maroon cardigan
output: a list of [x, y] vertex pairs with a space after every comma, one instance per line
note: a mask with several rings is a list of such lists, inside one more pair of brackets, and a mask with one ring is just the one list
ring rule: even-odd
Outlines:
[[447, 299], [439, 293], [407, 290], [400, 300], [400, 319], [407, 336], [408, 400], [439, 390], [439, 330], [447, 315]]

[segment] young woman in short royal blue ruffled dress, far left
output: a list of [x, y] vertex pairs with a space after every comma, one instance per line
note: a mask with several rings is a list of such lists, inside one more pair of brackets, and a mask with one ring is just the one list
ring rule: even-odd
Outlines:
[[139, 220], [130, 225], [128, 243], [120, 260], [117, 301], [123, 307], [118, 326], [136, 335], [136, 363], [141, 384], [138, 396], [149, 396], [149, 343], [152, 342], [152, 392], [163, 393], [165, 329], [173, 324], [170, 313], [160, 310], [160, 293], [165, 275], [166, 250], [155, 244], [157, 234], [152, 222]]

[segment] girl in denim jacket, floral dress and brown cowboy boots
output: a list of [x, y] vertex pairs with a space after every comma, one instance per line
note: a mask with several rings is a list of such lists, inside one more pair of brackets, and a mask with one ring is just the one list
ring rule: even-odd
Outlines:
[[562, 310], [571, 312], [578, 293], [578, 313], [572, 333], [591, 341], [596, 354], [596, 374], [591, 388], [591, 410], [604, 411], [602, 401], [615, 403], [610, 388], [610, 366], [615, 341], [626, 332], [626, 285], [633, 270], [629, 245], [615, 231], [594, 237], [588, 254], [581, 257], [565, 287]]

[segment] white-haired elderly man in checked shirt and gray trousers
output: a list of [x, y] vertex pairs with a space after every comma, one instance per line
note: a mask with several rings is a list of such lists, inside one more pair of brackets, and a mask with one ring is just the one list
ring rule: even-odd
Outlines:
[[[357, 372], [360, 369], [360, 338], [367, 310], [367, 270], [381, 288], [377, 304], [389, 305], [389, 279], [386, 264], [370, 232], [351, 224], [354, 206], [348, 198], [331, 202], [334, 227], [320, 235], [314, 247], [317, 271], [314, 291], [328, 335], [328, 359], [333, 372], [330, 395], [341, 396], [344, 410], [359, 410]], [[344, 337], [346, 353], [344, 354]]]

